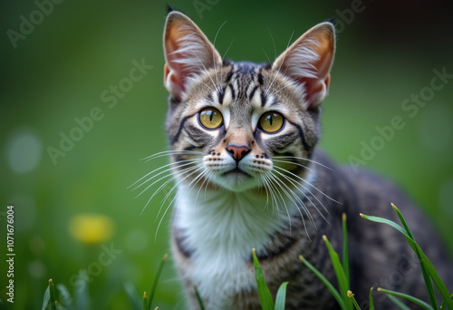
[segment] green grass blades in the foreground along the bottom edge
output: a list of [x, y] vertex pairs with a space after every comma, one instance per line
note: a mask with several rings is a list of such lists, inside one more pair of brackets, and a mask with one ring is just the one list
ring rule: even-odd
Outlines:
[[[402, 301], [402, 299], [409, 300], [411, 303], [415, 305], [421, 306], [423, 309], [426, 310], [444, 310], [444, 309], [449, 309], [453, 310], [453, 295], [450, 295], [448, 292], [447, 287], [444, 285], [442, 282], [441, 278], [439, 277], [438, 272], [436, 271], [436, 268], [431, 264], [429, 261], [428, 257], [425, 256], [423, 253], [422, 249], [419, 247], [417, 242], [415, 241], [415, 238], [412, 235], [412, 232], [410, 231], [410, 227], [402, 214], [400, 213], [400, 210], [395, 207], [393, 204], [391, 205], [392, 208], [395, 210], [395, 212], [398, 215], [398, 218], [400, 218], [401, 225], [390, 221], [389, 219], [386, 218], [379, 218], [379, 217], [373, 217], [373, 216], [367, 216], [364, 214], [361, 214], [362, 218], [371, 220], [373, 222], [378, 222], [381, 224], [389, 225], [392, 228], [395, 228], [400, 231], [401, 234], [406, 237], [406, 240], [408, 241], [410, 247], [412, 250], [417, 254], [417, 257], [419, 257], [419, 265], [423, 274], [423, 277], [425, 279], [425, 285], [427, 287], [427, 291], [429, 294], [429, 302], [420, 300], [419, 298], [408, 295], [405, 293], [401, 292], [395, 292], [391, 291], [385, 288], [379, 287], [377, 289], [378, 292], [381, 292], [383, 294], [388, 295], [389, 299], [391, 302], [393, 302], [395, 305], [397, 305], [400, 309], [410, 309], [408, 305], [405, 305]], [[349, 257], [348, 257], [348, 235], [347, 235], [347, 225], [346, 225], [346, 215], [343, 214], [342, 216], [342, 232], [343, 232], [343, 253], [342, 253], [342, 260], [340, 260], [340, 257], [338, 253], [333, 249], [332, 245], [330, 244], [328, 238], [326, 236], [323, 236], [323, 242], [325, 244], [325, 247], [327, 247], [329, 251], [329, 255], [333, 264], [333, 270], [335, 272], [335, 276], [337, 278], [338, 282], [338, 287], [337, 289], [323, 274], [317, 270], [312, 264], [310, 264], [309, 261], [307, 261], [304, 257], [300, 256], [300, 260], [304, 263], [304, 266], [308, 267], [316, 276], [319, 277], [319, 279], [323, 282], [324, 286], [331, 292], [335, 300], [337, 301], [338, 305], [342, 308], [342, 310], [361, 310], [361, 307], [357, 304], [357, 301], [354, 298], [354, 294], [352, 293], [350, 289], [350, 276], [349, 276]], [[258, 291], [259, 295], [259, 300], [261, 303], [261, 307], [263, 310], [284, 310], [284, 303], [285, 303], [285, 297], [286, 297], [286, 287], [288, 286], [288, 282], [284, 282], [279, 288], [275, 296], [275, 301], [272, 297], [271, 291], [269, 290], [269, 287], [267, 286], [265, 282], [265, 274], [263, 273], [263, 270], [261, 269], [261, 266], [259, 264], [258, 258], [256, 257], [255, 253], [255, 248], [252, 250], [252, 255], [253, 255], [253, 263], [255, 267], [255, 281], [256, 281], [256, 288]], [[158, 309], [159, 307], [153, 308], [152, 301], [153, 301], [153, 296], [156, 292], [156, 288], [158, 286], [159, 282], [159, 276], [162, 272], [162, 269], [168, 259], [168, 255], [165, 255], [162, 260], [159, 263], [158, 271], [156, 274], [156, 277], [154, 278], [153, 285], [151, 287], [151, 291], [149, 293], [149, 298], [147, 297], [146, 292], [142, 295], [141, 301], [140, 297], [137, 294], [137, 291], [135, 290], [133, 285], [125, 285], [125, 291], [130, 297], [130, 302], [133, 305], [134, 309], [137, 310], [152, 310], [152, 309]], [[435, 290], [436, 288], [439, 291], [439, 294], [442, 296], [442, 305], [438, 305], [436, 295], [435, 295]], [[200, 306], [200, 309], [204, 310], [205, 305], [203, 305], [203, 300], [198, 294], [198, 289], [196, 286], [194, 286], [195, 294], [198, 298], [198, 303]], [[370, 289], [370, 295], [369, 295], [369, 309], [373, 310], [374, 309], [374, 302], [372, 298], [372, 290], [373, 287]], [[56, 286], [56, 291], [57, 294], [55, 294], [55, 289], [53, 285], [53, 280], [49, 280], [49, 285], [47, 286], [47, 289], [44, 292], [43, 296], [43, 310], [79, 310], [78, 308], [74, 307], [72, 304], [72, 298], [68, 293], [68, 290], [66, 289], [65, 286], [63, 285], [57, 285]], [[80, 296], [78, 296], [80, 298]], [[90, 305], [89, 301], [75, 301], [75, 305]]]

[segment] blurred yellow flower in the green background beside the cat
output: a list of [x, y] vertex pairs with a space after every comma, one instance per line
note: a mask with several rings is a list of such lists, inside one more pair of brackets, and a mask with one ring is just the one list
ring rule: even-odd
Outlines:
[[69, 223], [72, 237], [88, 245], [100, 244], [109, 239], [113, 230], [113, 220], [102, 214], [78, 214]]

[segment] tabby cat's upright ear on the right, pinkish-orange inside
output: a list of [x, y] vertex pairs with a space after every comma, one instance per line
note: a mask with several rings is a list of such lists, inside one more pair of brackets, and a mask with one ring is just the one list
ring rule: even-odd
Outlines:
[[333, 24], [317, 24], [278, 56], [272, 69], [303, 83], [307, 109], [315, 108], [329, 91], [334, 53]]

